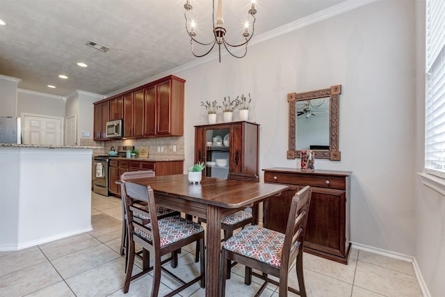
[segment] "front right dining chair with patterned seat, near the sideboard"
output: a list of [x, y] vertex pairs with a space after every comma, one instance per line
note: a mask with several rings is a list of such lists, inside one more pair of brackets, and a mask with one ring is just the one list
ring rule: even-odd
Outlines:
[[[280, 297], [287, 296], [288, 290], [306, 296], [302, 260], [311, 194], [311, 187], [305, 186], [293, 196], [285, 234], [252, 225], [225, 241], [221, 255], [220, 296], [225, 296], [227, 259], [245, 265], [245, 284], [251, 284], [252, 275], [265, 281], [255, 296], [259, 296], [269, 282], [279, 287]], [[288, 273], [294, 260], [299, 290], [288, 287]], [[262, 274], [255, 273], [252, 268]], [[279, 278], [279, 282], [268, 278], [268, 274]]]

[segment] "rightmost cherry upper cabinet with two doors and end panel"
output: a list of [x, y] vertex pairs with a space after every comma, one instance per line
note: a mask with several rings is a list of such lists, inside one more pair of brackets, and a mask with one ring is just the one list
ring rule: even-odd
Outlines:
[[144, 136], [184, 135], [185, 82], [170, 75], [145, 88]]

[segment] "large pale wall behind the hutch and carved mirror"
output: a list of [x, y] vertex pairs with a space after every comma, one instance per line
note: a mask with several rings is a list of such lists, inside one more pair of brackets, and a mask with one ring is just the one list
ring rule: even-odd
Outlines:
[[414, 1], [370, 3], [177, 75], [186, 79], [184, 170], [193, 125], [207, 122], [201, 101], [250, 93], [260, 168], [296, 168], [286, 159], [286, 94], [341, 84], [341, 161], [316, 168], [353, 171], [351, 241], [414, 255]]

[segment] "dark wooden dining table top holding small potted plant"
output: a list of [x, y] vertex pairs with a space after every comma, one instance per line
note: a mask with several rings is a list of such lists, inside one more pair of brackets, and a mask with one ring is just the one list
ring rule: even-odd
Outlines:
[[187, 175], [165, 175], [131, 179], [136, 184], [150, 186], [154, 193], [192, 202], [238, 209], [281, 193], [289, 186], [264, 184], [216, 177], [202, 177], [200, 183], [189, 183]]

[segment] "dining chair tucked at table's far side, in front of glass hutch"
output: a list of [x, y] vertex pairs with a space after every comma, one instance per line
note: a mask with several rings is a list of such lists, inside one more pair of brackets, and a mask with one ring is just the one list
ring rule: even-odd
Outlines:
[[[232, 180], [246, 180], [250, 182], [258, 182], [257, 175], [245, 175], [243, 173], [229, 173], [229, 177], [227, 179]], [[224, 239], [222, 241], [226, 241], [233, 234], [234, 231], [238, 228], [243, 228], [245, 225], [258, 225], [258, 204], [254, 204], [251, 207], [248, 207], [251, 211], [246, 211], [245, 209], [241, 209], [236, 211], [234, 214], [229, 214], [223, 218], [221, 218], [221, 229], [224, 232]], [[198, 218], [198, 223], [206, 223], [205, 218]], [[196, 247], [195, 254], [195, 262], [197, 262], [199, 257], [199, 247]], [[227, 279], [230, 278], [230, 273], [232, 271], [232, 267], [236, 265], [236, 262], [231, 262], [227, 260]]]

